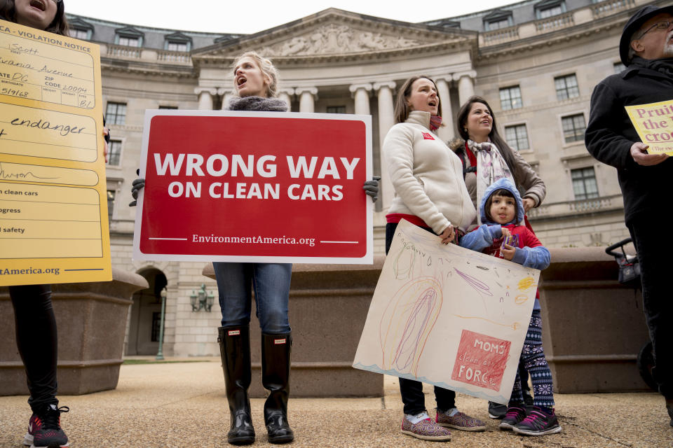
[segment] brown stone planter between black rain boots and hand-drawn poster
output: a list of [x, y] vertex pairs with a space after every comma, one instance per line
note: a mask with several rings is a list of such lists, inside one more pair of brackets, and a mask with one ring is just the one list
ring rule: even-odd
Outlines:
[[[292, 332], [301, 335], [292, 344], [293, 397], [383, 395], [383, 375], [351, 366], [384, 260], [376, 256], [373, 265], [292, 265], [290, 320]], [[211, 263], [203, 274], [215, 278]], [[255, 398], [266, 396], [260, 339], [259, 331], [251, 328], [250, 396]]]

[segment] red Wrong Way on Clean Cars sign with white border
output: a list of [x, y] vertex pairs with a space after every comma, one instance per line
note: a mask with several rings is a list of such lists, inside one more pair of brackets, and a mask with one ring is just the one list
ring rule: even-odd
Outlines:
[[134, 258], [372, 262], [371, 118], [147, 111]]

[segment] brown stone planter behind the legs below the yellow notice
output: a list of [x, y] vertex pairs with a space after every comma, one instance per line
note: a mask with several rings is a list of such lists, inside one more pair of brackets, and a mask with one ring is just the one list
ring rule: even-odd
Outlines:
[[[112, 268], [112, 281], [51, 286], [58, 328], [58, 392], [80, 395], [117, 386], [132, 295], [148, 287], [138, 274]], [[0, 395], [28, 393], [16, 349], [9, 291], [0, 286]]]

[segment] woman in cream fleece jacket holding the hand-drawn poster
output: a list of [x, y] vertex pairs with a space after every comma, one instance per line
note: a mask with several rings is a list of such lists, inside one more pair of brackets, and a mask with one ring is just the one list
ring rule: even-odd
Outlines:
[[[463, 181], [463, 165], [435, 130], [442, 125], [442, 106], [435, 82], [426, 76], [409, 78], [397, 94], [395, 120], [381, 152], [395, 188], [386, 215], [386, 253], [401, 219], [433, 232], [442, 243], [456, 242], [477, 211]], [[414, 312], [410, 310], [409, 312]], [[405, 416], [402, 433], [422, 440], [450, 440], [447, 428], [478, 431], [484, 422], [458, 412], [456, 393], [435, 386], [437, 413], [430, 419], [423, 384], [400, 378]]]

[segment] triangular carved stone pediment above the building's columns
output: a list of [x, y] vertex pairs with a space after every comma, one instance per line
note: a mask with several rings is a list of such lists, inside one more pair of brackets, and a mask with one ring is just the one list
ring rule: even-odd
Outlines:
[[324, 10], [287, 25], [201, 48], [193, 59], [231, 59], [255, 50], [274, 60], [353, 57], [400, 52], [438, 44], [476, 45], [477, 33], [397, 22], [338, 9]]

